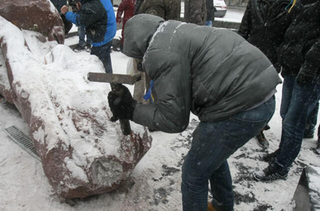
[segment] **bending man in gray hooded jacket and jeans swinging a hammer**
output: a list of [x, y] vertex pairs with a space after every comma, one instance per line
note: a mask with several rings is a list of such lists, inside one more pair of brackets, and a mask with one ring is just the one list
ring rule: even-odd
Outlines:
[[[197, 35], [190, 35], [194, 31]], [[208, 180], [209, 210], [233, 210], [226, 159], [274, 112], [281, 80], [271, 62], [232, 31], [149, 14], [126, 22], [123, 53], [142, 59], [158, 99], [136, 103], [122, 86], [123, 95], [108, 94], [113, 115], [168, 133], [182, 132], [190, 111], [197, 115], [200, 123], [182, 166], [183, 210], [207, 210]]]

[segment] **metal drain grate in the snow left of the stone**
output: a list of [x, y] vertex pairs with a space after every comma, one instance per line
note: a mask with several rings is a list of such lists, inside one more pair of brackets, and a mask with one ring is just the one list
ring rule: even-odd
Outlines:
[[36, 152], [32, 140], [19, 130], [16, 126], [12, 125], [4, 129], [5, 133], [21, 148], [31, 154], [36, 159], [40, 160], [38, 153]]

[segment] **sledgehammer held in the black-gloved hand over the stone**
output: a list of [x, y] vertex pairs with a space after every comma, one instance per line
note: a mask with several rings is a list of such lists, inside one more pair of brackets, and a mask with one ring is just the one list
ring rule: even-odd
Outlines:
[[[141, 79], [141, 74], [136, 73], [132, 75], [128, 74], [112, 74], [112, 73], [101, 73], [101, 72], [89, 72], [87, 78], [94, 82], [107, 82], [110, 83], [111, 90], [118, 92], [119, 95], [122, 93], [120, 84], [130, 84], [133, 85], [136, 81]], [[123, 135], [128, 135], [131, 133], [131, 126], [128, 119], [119, 119], [121, 131]]]

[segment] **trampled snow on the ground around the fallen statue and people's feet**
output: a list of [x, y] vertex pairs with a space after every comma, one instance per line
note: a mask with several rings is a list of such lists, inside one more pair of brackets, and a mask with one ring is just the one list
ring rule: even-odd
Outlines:
[[[79, 52], [79, 56], [88, 52]], [[125, 73], [128, 57], [111, 53], [114, 73]], [[1, 59], [0, 59], [1, 60]], [[4, 62], [1, 61], [1, 65]], [[81, 66], [81, 65], [79, 65]], [[130, 91], [133, 86], [128, 85]], [[281, 131], [279, 105], [281, 85], [277, 86], [276, 110], [265, 132], [269, 151], [276, 149]], [[105, 96], [106, 97], [106, 96]], [[88, 99], [82, 99], [90, 103]], [[137, 164], [125, 185], [118, 190], [85, 199], [63, 200], [54, 194], [43, 173], [41, 163], [17, 146], [3, 131], [16, 125], [27, 133], [28, 126], [11, 104], [0, 103], [0, 210], [181, 210], [180, 176], [183, 156], [191, 143], [192, 130], [198, 120], [190, 117], [189, 127], [182, 133], [152, 132], [152, 147]], [[302, 166], [320, 166], [320, 157], [312, 148], [316, 141], [304, 139], [301, 152], [286, 180], [256, 182], [251, 173], [266, 167], [256, 159], [261, 152], [252, 138], [229, 159], [235, 193], [235, 210], [292, 210], [291, 198]], [[241, 158], [237, 155], [244, 154]]]

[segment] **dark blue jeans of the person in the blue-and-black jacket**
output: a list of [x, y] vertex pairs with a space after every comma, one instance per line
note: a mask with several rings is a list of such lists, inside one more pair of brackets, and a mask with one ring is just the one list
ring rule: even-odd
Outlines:
[[106, 73], [112, 73], [112, 65], [111, 65], [111, 43], [112, 40], [102, 46], [92, 46], [91, 53], [92, 55], [98, 56], [98, 58], [102, 61]]

